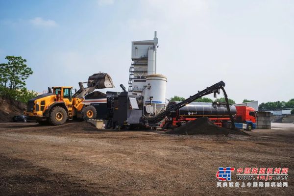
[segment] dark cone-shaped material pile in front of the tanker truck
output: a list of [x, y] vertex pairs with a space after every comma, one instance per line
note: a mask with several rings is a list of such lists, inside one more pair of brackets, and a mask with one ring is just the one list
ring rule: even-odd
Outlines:
[[194, 121], [190, 121], [183, 126], [165, 132], [166, 134], [178, 135], [228, 135], [239, 134], [247, 135], [240, 130], [230, 130], [215, 125], [207, 117], [202, 117]]

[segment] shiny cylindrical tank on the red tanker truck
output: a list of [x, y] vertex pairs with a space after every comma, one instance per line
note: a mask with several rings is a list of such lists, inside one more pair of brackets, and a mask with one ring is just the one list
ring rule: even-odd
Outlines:
[[[179, 103], [179, 101], [171, 101], [169, 104]], [[230, 106], [231, 114], [236, 114], [236, 107]], [[207, 117], [222, 117], [229, 116], [225, 104], [213, 104], [206, 102], [191, 102], [179, 109], [180, 116], [207, 116]]]

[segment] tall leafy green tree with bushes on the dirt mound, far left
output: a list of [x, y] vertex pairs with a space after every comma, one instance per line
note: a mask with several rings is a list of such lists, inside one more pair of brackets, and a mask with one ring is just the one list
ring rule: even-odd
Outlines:
[[[25, 80], [33, 73], [21, 56], [6, 56], [7, 63], [0, 64], [0, 95], [16, 100], [27, 100], [35, 95], [25, 88]], [[24, 96], [24, 97], [23, 97]]]

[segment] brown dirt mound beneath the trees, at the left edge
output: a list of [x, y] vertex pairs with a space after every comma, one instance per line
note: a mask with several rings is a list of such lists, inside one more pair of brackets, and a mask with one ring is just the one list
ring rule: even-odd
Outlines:
[[0, 97], [0, 122], [12, 121], [12, 117], [24, 114], [26, 104], [9, 98]]

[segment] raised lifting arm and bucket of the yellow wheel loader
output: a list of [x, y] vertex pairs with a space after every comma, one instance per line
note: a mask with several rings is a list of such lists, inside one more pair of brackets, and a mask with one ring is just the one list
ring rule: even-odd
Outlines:
[[[87, 83], [87, 88], [84, 88], [83, 83]], [[74, 98], [83, 98], [95, 89], [114, 88], [112, 79], [107, 73], [95, 73], [89, 76], [87, 82], [79, 82], [79, 90], [73, 95]]]

